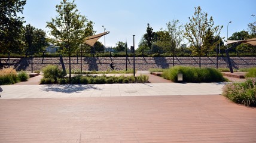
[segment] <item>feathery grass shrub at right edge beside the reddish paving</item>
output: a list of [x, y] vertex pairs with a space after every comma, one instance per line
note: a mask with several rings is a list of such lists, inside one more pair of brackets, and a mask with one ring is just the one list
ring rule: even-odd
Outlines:
[[247, 106], [256, 106], [256, 79], [249, 78], [242, 83], [229, 83], [223, 87], [224, 97]]

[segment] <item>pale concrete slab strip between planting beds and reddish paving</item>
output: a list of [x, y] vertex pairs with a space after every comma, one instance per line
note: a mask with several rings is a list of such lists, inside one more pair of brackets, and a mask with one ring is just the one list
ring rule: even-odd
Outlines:
[[220, 95], [224, 83], [127, 83], [102, 85], [5, 85], [2, 99]]

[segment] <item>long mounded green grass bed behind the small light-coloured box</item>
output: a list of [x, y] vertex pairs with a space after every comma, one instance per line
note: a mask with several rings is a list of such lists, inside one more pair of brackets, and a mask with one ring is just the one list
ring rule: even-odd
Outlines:
[[178, 73], [182, 73], [182, 82], [224, 82], [223, 75], [217, 69], [198, 67], [171, 67], [163, 70], [164, 79], [178, 82]]

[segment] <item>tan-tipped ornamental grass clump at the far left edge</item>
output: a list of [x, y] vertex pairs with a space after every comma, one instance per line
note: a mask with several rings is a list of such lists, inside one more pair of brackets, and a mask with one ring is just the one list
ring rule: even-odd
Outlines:
[[0, 85], [11, 85], [16, 83], [17, 80], [16, 70], [11, 68], [0, 70]]

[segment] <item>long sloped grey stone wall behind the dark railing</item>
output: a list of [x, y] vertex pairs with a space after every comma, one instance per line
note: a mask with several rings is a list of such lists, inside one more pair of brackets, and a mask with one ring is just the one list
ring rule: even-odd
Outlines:
[[[6, 61], [7, 58], [1, 58]], [[10, 58], [11, 61], [15, 61], [11, 64], [16, 70], [31, 71], [31, 58]], [[83, 71], [86, 70], [108, 70], [109, 63], [114, 61], [114, 65], [119, 69], [126, 69], [126, 57], [83, 57], [82, 67]], [[63, 58], [66, 69], [68, 69], [68, 58]], [[246, 68], [246, 67], [256, 67], [256, 57], [231, 57], [231, 62], [233, 63], [233, 68]], [[3, 63], [3, 62], [2, 62]], [[71, 69], [80, 71], [80, 57], [71, 58]], [[62, 67], [60, 64], [60, 58], [33, 58], [33, 71], [41, 70], [48, 64], [54, 64]], [[175, 57], [175, 66], [194, 66], [199, 67], [199, 57]], [[136, 70], [148, 70], [150, 68], [168, 68], [173, 66], [172, 57], [136, 57], [135, 67]], [[202, 57], [201, 58], [202, 67], [217, 67], [216, 57]], [[218, 58], [218, 67], [228, 67], [227, 58]], [[128, 57], [127, 68], [133, 69], [133, 57]]]

